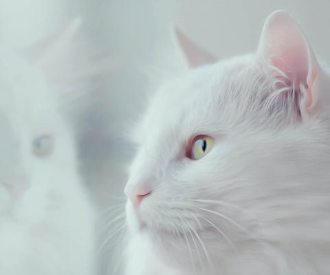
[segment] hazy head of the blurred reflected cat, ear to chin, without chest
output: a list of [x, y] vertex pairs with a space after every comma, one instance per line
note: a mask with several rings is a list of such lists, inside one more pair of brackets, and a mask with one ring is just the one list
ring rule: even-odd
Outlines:
[[54, 41], [24, 54], [0, 45], [1, 219], [51, 219], [80, 184], [74, 139], [61, 115], [57, 87], [44, 69], [54, 66], [52, 58], [67, 50], [76, 30], [74, 21]]

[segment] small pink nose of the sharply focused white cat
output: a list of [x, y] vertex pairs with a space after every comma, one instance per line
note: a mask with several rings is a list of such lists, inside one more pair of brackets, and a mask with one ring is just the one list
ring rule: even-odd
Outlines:
[[126, 197], [133, 203], [133, 206], [137, 208], [141, 201], [151, 194], [151, 184], [150, 181], [129, 181], [125, 187]]

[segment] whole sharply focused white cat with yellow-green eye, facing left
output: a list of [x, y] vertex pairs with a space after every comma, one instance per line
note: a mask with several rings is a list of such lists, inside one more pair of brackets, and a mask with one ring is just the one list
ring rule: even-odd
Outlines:
[[162, 86], [134, 136], [126, 274], [330, 274], [329, 87], [285, 12], [256, 54]]

